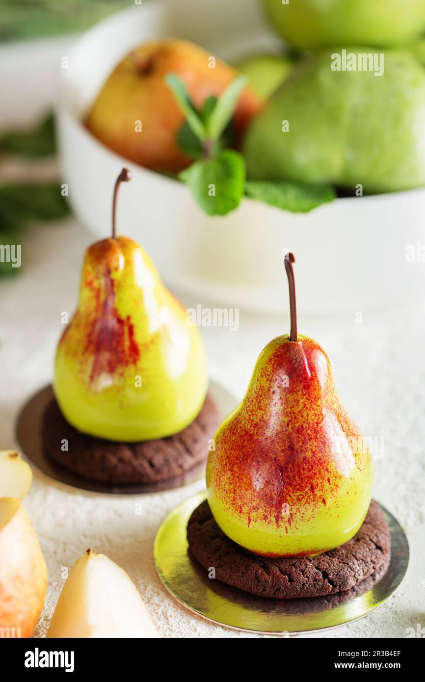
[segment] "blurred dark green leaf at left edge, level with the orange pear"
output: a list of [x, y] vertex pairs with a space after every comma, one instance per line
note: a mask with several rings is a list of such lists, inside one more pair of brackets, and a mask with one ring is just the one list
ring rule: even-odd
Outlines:
[[50, 156], [55, 153], [55, 130], [50, 114], [34, 130], [12, 131], [0, 136], [0, 153], [26, 158]]

